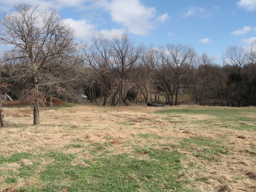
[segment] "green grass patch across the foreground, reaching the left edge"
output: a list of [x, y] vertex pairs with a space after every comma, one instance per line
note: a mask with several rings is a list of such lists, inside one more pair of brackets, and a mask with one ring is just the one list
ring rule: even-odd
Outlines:
[[[106, 148], [103, 147], [104, 150]], [[98, 150], [97, 147], [95, 150]], [[146, 154], [140, 152], [147, 151]], [[21, 165], [14, 172], [10, 170], [4, 180], [14, 184], [19, 178], [29, 182], [34, 177], [38, 182], [34, 186], [22, 186], [25, 192], [59, 192], [68, 189], [72, 192], [112, 192], [112, 191], [162, 191], [192, 192], [184, 187], [189, 182], [184, 178], [181, 160], [184, 154], [154, 148], [136, 148], [133, 154], [116, 154], [95, 156], [93, 160], [83, 159], [88, 166], [72, 165], [74, 154], [50, 152], [48, 154], [15, 154], [2, 158], [4, 163], [19, 163], [22, 158], [33, 159], [33, 164]], [[49, 161], [49, 159], [51, 159]], [[41, 172], [41, 162], [49, 162]], [[184, 182], [177, 182], [184, 179]]]

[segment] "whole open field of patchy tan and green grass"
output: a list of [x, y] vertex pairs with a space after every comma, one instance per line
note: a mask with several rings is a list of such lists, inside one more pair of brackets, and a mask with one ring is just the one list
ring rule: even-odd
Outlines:
[[256, 108], [4, 107], [0, 192], [256, 191]]

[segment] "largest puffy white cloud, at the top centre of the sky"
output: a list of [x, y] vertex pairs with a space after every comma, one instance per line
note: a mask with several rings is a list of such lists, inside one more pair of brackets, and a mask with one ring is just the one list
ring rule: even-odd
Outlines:
[[112, 21], [122, 24], [130, 33], [146, 35], [155, 28], [153, 19], [156, 9], [146, 7], [138, 0], [112, 0], [108, 10]]

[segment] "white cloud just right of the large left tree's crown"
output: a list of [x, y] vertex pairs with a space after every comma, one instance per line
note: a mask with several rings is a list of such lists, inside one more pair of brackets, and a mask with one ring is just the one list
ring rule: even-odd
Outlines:
[[86, 22], [86, 20], [64, 19], [75, 30], [76, 37], [81, 40], [90, 40], [97, 33], [96, 25]]

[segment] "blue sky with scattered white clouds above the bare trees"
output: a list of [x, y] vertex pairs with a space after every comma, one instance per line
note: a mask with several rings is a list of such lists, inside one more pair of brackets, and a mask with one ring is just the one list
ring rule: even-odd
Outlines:
[[18, 3], [55, 8], [85, 42], [126, 33], [146, 45], [192, 45], [221, 61], [228, 46], [256, 41], [256, 0], [1, 0], [0, 12]]

